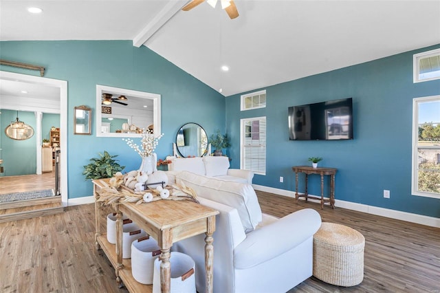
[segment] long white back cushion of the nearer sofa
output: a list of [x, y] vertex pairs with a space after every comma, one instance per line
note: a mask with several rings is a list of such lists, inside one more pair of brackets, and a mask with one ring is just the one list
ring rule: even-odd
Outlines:
[[186, 171], [176, 175], [176, 183], [181, 184], [182, 181], [192, 188], [198, 197], [236, 208], [245, 232], [254, 230], [261, 222], [263, 216], [252, 185], [218, 180]]

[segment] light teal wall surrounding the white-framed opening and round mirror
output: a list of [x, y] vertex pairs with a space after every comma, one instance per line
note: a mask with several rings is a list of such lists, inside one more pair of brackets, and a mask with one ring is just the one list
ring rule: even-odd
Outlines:
[[[97, 138], [73, 134], [73, 112], [87, 105], [96, 114], [96, 85], [108, 85], [162, 95], [162, 133], [156, 153], [164, 158], [172, 153], [177, 130], [196, 122], [214, 133], [225, 129], [225, 98], [147, 47], [133, 47], [132, 41], [3, 41], [1, 59], [42, 65], [45, 77], [67, 80], [68, 197], [92, 195], [91, 182], [85, 181], [83, 166], [104, 150], [126, 166], [138, 169], [140, 157], [120, 138]], [[39, 75], [25, 69], [0, 66], [21, 74]], [[3, 115], [3, 114], [2, 114]], [[64, 129], [62, 131], [65, 131]]]

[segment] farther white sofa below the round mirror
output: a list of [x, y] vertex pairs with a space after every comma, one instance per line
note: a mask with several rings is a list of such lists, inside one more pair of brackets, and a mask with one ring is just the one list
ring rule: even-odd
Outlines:
[[254, 173], [242, 169], [229, 169], [229, 158], [223, 156], [206, 155], [195, 158], [168, 157], [171, 163], [168, 164], [168, 171], [190, 171], [198, 175], [206, 175], [221, 180], [242, 182], [252, 184]]

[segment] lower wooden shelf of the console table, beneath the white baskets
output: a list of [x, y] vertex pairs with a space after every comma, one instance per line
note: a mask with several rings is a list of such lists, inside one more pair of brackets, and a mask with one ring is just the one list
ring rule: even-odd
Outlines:
[[[111, 265], [113, 265], [113, 268], [116, 268], [118, 265], [118, 257], [116, 256], [115, 244], [111, 244], [107, 241], [106, 233], [98, 236], [96, 239], [98, 240], [102, 251], [104, 251], [104, 254], [107, 255]], [[129, 292], [153, 292], [153, 285], [144, 285], [133, 278], [133, 275], [131, 274], [131, 259], [123, 259], [122, 264], [124, 265], [124, 268], [119, 270], [119, 276]]]

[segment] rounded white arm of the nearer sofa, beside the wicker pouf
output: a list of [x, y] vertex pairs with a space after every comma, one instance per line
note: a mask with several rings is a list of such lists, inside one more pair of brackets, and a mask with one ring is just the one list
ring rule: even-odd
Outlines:
[[274, 259], [313, 237], [320, 226], [319, 213], [306, 208], [249, 232], [246, 239], [234, 249], [234, 267], [252, 268]]

